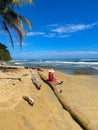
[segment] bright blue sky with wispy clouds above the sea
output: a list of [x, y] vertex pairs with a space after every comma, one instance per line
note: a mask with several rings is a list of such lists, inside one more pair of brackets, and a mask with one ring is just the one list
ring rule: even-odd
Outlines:
[[22, 50], [18, 41], [12, 49], [0, 33], [13, 59], [98, 58], [98, 0], [34, 0], [34, 6], [18, 8], [29, 18]]

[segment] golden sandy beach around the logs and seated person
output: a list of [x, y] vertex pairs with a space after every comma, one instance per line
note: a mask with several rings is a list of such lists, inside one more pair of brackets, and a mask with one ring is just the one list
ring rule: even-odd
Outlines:
[[[0, 70], [0, 130], [82, 130], [64, 110], [53, 91], [39, 76], [41, 89], [33, 84], [29, 69]], [[36, 69], [31, 70], [37, 74]], [[43, 70], [48, 74], [48, 70]], [[62, 96], [98, 129], [98, 78], [55, 72], [63, 80]], [[21, 79], [21, 80], [19, 80]], [[23, 96], [34, 99], [31, 106]]]

